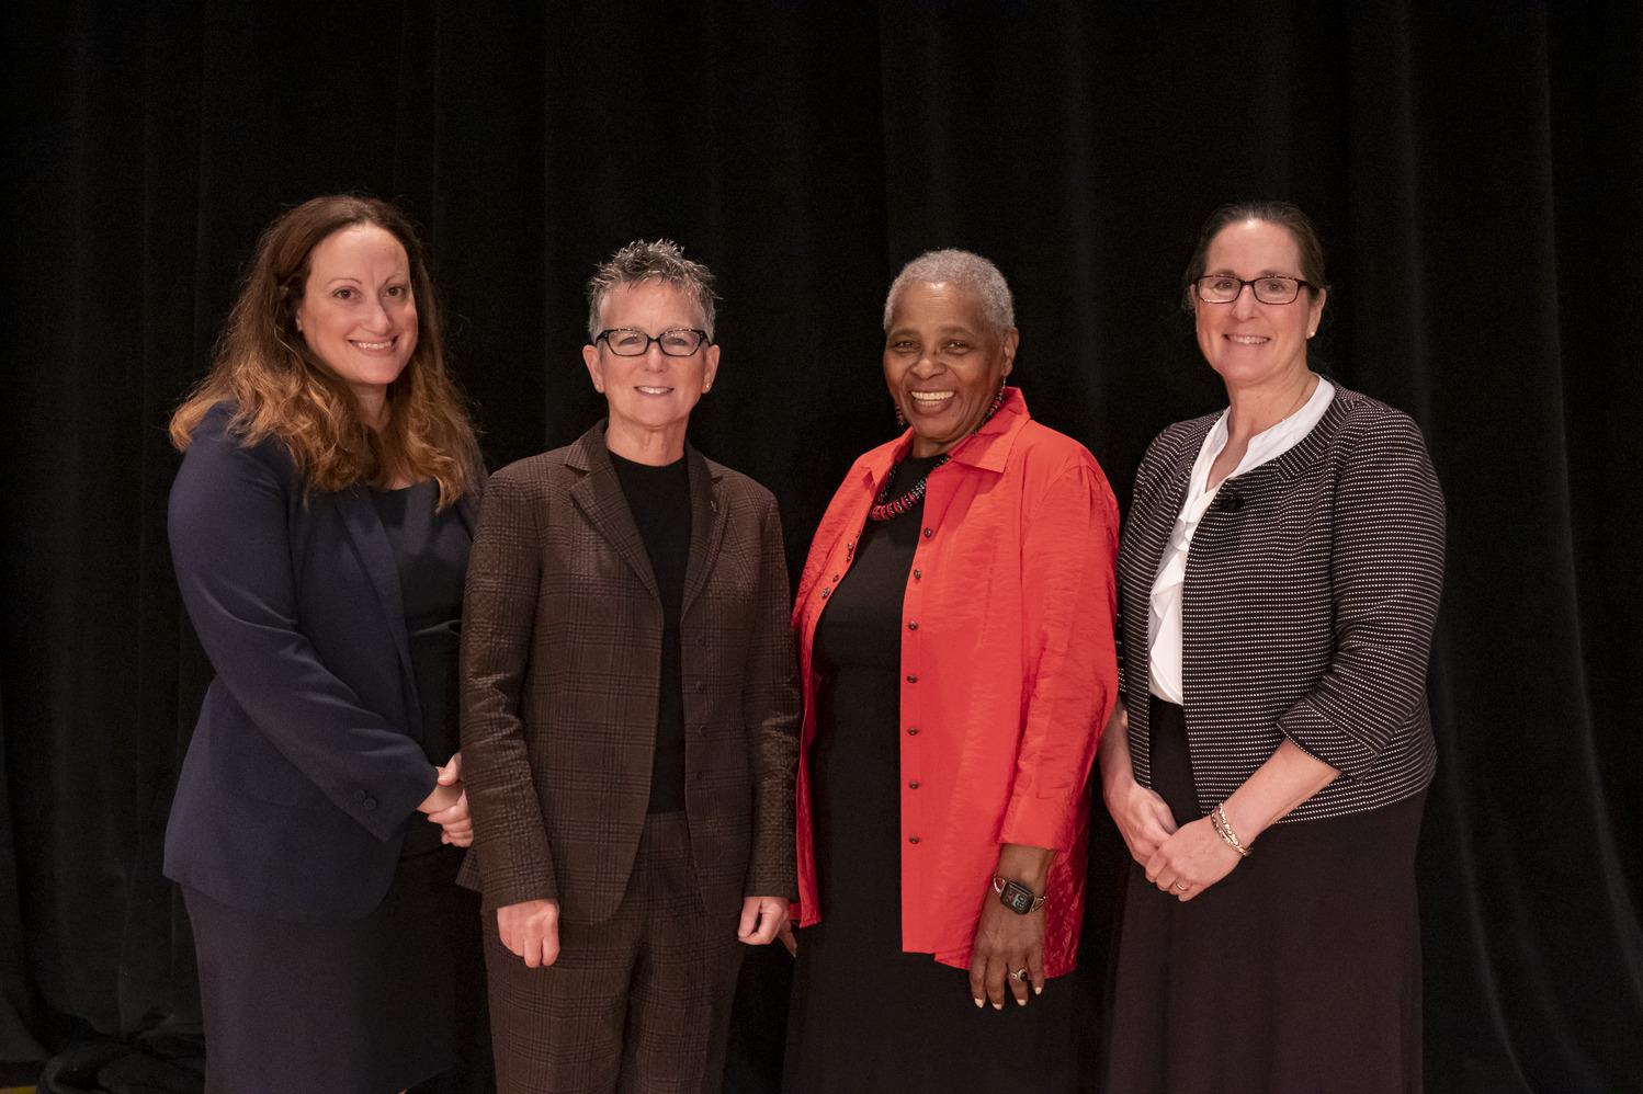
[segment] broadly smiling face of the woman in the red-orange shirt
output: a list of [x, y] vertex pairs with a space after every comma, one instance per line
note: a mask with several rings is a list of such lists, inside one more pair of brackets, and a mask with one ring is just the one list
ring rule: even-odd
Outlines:
[[1015, 327], [994, 330], [968, 286], [902, 289], [884, 338], [884, 381], [914, 430], [914, 455], [948, 452], [976, 432], [1015, 365]]

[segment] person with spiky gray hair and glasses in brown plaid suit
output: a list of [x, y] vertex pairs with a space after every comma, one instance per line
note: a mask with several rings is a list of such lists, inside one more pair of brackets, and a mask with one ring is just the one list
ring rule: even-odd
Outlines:
[[687, 440], [713, 274], [636, 241], [588, 281], [608, 417], [490, 480], [463, 774], [499, 1094], [716, 1091], [746, 945], [787, 922], [798, 688], [775, 498]]

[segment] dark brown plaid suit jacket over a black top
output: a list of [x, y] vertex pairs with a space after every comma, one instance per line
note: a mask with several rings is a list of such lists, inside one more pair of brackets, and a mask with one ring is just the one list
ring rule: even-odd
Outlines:
[[[690, 462], [680, 641], [685, 813], [710, 915], [797, 897], [798, 687], [775, 498]], [[485, 908], [621, 902], [651, 793], [662, 655], [656, 577], [605, 424], [490, 478], [462, 613], [463, 884]]]

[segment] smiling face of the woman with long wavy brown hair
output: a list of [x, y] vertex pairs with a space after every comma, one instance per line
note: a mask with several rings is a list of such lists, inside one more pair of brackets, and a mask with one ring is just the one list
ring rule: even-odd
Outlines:
[[366, 421], [378, 421], [388, 384], [416, 350], [406, 248], [371, 223], [327, 235], [309, 255], [296, 324], [309, 348], [353, 388]]

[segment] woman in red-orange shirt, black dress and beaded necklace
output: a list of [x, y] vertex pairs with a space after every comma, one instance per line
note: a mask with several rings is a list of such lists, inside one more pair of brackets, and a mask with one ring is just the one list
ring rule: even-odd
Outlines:
[[[884, 309], [909, 430], [810, 547], [792, 1092], [1071, 1089], [1086, 780], [1117, 693], [1117, 506], [1004, 386], [997, 268], [909, 263]], [[966, 972], [968, 969], [968, 972]]]

